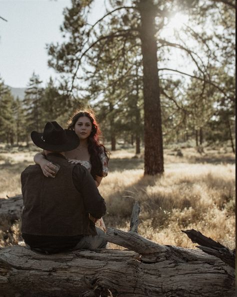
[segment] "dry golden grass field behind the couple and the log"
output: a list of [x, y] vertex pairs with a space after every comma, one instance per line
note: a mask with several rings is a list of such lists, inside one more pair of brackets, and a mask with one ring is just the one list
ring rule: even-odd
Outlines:
[[[21, 193], [20, 172], [36, 151], [0, 152], [0, 198]], [[134, 201], [141, 213], [138, 232], [160, 244], [194, 247], [181, 232], [196, 229], [229, 248], [235, 247], [235, 164], [234, 155], [224, 150], [195, 148], [164, 151], [165, 173], [143, 176], [143, 159], [133, 148], [113, 152], [109, 174], [99, 191], [104, 197], [106, 226], [128, 230]], [[17, 244], [19, 225], [1, 222], [0, 246]], [[111, 245], [111, 248], [116, 246]]]

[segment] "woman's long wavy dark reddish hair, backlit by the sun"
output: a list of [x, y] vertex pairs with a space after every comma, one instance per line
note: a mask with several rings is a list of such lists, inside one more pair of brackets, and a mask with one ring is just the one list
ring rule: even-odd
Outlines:
[[99, 177], [103, 176], [102, 163], [99, 158], [99, 155], [101, 155], [101, 152], [104, 152], [105, 158], [107, 159], [107, 162], [108, 162], [109, 152], [106, 151], [103, 144], [99, 143], [99, 136], [101, 135], [101, 131], [95, 120], [95, 116], [92, 110], [89, 110], [89, 111], [76, 110], [72, 114], [70, 120], [68, 121], [68, 129], [73, 130], [75, 123], [77, 122], [78, 118], [81, 116], [88, 117], [92, 125], [92, 129], [88, 137], [88, 152], [90, 155], [90, 163], [91, 163], [90, 174], [92, 175], [93, 179], [95, 179], [96, 176], [99, 176]]

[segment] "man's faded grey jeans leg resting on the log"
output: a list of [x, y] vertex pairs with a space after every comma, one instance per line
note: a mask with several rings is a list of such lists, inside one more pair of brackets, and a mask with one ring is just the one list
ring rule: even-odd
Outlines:
[[84, 235], [72, 250], [106, 248], [105, 233], [101, 229], [95, 228], [98, 235]]

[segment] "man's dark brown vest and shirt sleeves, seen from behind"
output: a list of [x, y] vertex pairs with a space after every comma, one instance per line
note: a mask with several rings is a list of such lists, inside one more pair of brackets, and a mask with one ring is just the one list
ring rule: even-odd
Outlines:
[[30, 165], [21, 173], [24, 205], [21, 232], [45, 236], [96, 235], [88, 214], [100, 218], [106, 207], [93, 178], [83, 166], [68, 163], [60, 154], [48, 154], [47, 159], [60, 165], [55, 178], [45, 177], [39, 165]]

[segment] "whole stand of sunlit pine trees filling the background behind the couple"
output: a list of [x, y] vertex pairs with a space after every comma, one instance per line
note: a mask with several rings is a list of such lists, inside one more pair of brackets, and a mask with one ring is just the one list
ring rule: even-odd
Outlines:
[[[22, 105], [0, 81], [1, 141], [21, 141], [47, 120], [66, 126], [75, 108], [90, 105], [112, 150], [123, 139], [139, 154], [143, 141], [147, 174], [163, 170], [162, 141], [230, 141], [234, 152], [234, 1], [109, 0], [89, 24], [93, 5], [72, 0], [60, 28], [65, 41], [48, 45], [60, 85], [50, 78], [43, 89], [33, 74]], [[176, 13], [188, 22], [167, 34]]]

